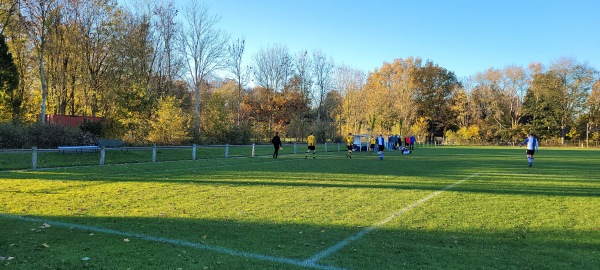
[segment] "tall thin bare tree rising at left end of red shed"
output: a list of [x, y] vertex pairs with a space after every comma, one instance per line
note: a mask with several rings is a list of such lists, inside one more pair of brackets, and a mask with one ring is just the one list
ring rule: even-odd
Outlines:
[[29, 33], [38, 49], [38, 62], [40, 71], [40, 84], [42, 86], [42, 105], [40, 122], [46, 123], [46, 106], [48, 100], [48, 85], [44, 73], [44, 53], [46, 50], [46, 36], [48, 34], [48, 20], [51, 13], [58, 8], [56, 0], [23, 0], [21, 13], [27, 18]]

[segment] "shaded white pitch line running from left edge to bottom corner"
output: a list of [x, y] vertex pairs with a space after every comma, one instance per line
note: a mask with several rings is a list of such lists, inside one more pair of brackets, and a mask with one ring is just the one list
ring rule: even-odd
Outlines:
[[0, 214], [0, 217], [8, 218], [8, 219], [25, 220], [25, 221], [31, 221], [31, 222], [40, 222], [40, 223], [45, 222], [52, 226], [64, 227], [64, 228], [69, 228], [69, 229], [78, 229], [78, 230], [120, 235], [120, 236], [126, 236], [126, 237], [135, 237], [135, 238], [139, 238], [139, 239], [143, 239], [143, 240], [147, 240], [147, 241], [159, 242], [159, 243], [164, 243], [164, 244], [172, 244], [172, 245], [177, 245], [177, 246], [186, 246], [186, 247], [202, 249], [202, 250], [210, 250], [210, 251], [228, 254], [228, 255], [232, 255], [232, 256], [251, 258], [251, 259], [257, 259], [257, 260], [262, 260], [262, 261], [270, 261], [270, 262], [276, 262], [276, 263], [291, 264], [291, 265], [300, 266], [300, 267], [325, 269], [325, 270], [343, 270], [343, 268], [327, 266], [327, 265], [320, 265], [320, 264], [316, 264], [314, 262], [307, 264], [302, 260], [270, 256], [270, 255], [264, 255], [264, 254], [254, 253], [254, 252], [237, 251], [237, 250], [233, 250], [233, 249], [229, 249], [229, 248], [225, 248], [225, 247], [199, 244], [199, 243], [189, 242], [189, 241], [185, 241], [185, 240], [157, 237], [157, 236], [151, 236], [151, 235], [140, 234], [140, 233], [117, 231], [117, 230], [106, 229], [106, 228], [92, 227], [92, 226], [73, 224], [73, 223], [65, 223], [65, 222], [60, 222], [60, 221], [49, 221], [49, 220], [45, 220], [45, 219], [24, 217], [24, 216]]

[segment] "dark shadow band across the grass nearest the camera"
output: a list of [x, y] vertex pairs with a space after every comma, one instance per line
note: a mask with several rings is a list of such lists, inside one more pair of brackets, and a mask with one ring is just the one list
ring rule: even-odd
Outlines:
[[[0, 216], [0, 256], [15, 257], [0, 261], [0, 265], [10, 269], [303, 269], [241, 255], [302, 261], [364, 229], [168, 217], [31, 218], [39, 221]], [[50, 226], [43, 225], [45, 220]], [[159, 240], [136, 238], [142, 234]], [[513, 228], [467, 232], [386, 226], [318, 263], [345, 269], [593, 269], [600, 265], [599, 249], [598, 231]]]

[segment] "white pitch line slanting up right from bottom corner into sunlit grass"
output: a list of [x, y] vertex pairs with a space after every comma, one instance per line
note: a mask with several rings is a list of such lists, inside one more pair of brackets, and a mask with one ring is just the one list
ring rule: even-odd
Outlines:
[[420, 199], [420, 200], [412, 203], [411, 205], [408, 205], [408, 206], [400, 209], [399, 211], [393, 213], [392, 215], [390, 215], [389, 217], [383, 219], [382, 221], [379, 221], [379, 222], [371, 225], [370, 227], [368, 227], [368, 228], [366, 228], [366, 229], [364, 229], [364, 230], [362, 230], [362, 231], [360, 231], [360, 232], [358, 232], [358, 233], [356, 233], [356, 234], [354, 234], [354, 235], [352, 235], [352, 236], [350, 236], [350, 237], [348, 237], [348, 238], [346, 238], [346, 239], [338, 242], [337, 244], [331, 246], [330, 248], [328, 248], [326, 250], [323, 250], [323, 251], [315, 254], [314, 256], [312, 256], [312, 257], [308, 258], [307, 260], [305, 260], [304, 263], [306, 265], [313, 265], [313, 264], [316, 265], [317, 261], [319, 261], [320, 259], [323, 259], [323, 258], [331, 255], [332, 253], [334, 253], [334, 252], [342, 249], [343, 247], [347, 246], [348, 244], [350, 244], [353, 241], [361, 239], [363, 236], [365, 236], [366, 234], [370, 233], [371, 231], [373, 231], [373, 230], [375, 230], [375, 229], [377, 229], [377, 228], [385, 225], [386, 223], [392, 221], [394, 218], [396, 218], [398, 216], [401, 216], [402, 214], [404, 214], [404, 213], [406, 213], [406, 212], [414, 209], [415, 207], [423, 204], [424, 202], [426, 202], [426, 201], [428, 201], [428, 200], [430, 200], [430, 199], [432, 199], [432, 198], [434, 198], [434, 197], [442, 194], [444, 191], [449, 190], [449, 189], [455, 187], [456, 185], [458, 185], [458, 184], [460, 184], [460, 183], [462, 183], [464, 181], [467, 181], [467, 180], [469, 180], [469, 179], [471, 179], [471, 178], [473, 178], [475, 176], [478, 176], [478, 175], [479, 175], [479, 173], [472, 174], [472, 175], [470, 175], [470, 176], [468, 176], [468, 177], [466, 177], [466, 178], [464, 178], [464, 179], [462, 179], [462, 180], [460, 180], [460, 181], [458, 181], [458, 182], [456, 182], [456, 183], [454, 183], [452, 185], [449, 185], [449, 186], [447, 186], [445, 188], [442, 188], [442, 189], [440, 189], [440, 190], [438, 190], [438, 191], [436, 191], [434, 193], [429, 194], [427, 197], [425, 197], [423, 199]]

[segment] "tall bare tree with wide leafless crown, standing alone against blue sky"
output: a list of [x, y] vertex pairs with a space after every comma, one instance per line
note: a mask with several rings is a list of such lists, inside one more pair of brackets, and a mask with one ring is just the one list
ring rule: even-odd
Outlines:
[[202, 83], [213, 72], [225, 67], [229, 36], [216, 28], [219, 18], [210, 15], [208, 7], [192, 1], [184, 12], [187, 25], [181, 32], [181, 49], [189, 76], [188, 84], [195, 93], [194, 140], [200, 141], [200, 92]]

